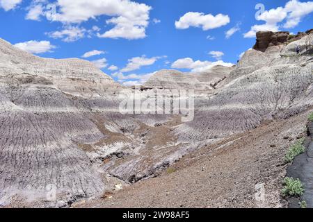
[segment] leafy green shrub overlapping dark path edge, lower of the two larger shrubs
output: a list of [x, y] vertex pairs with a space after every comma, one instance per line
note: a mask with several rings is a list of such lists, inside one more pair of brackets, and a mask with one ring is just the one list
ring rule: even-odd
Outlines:
[[283, 185], [282, 196], [302, 196], [304, 194], [305, 189], [299, 179], [284, 178]]

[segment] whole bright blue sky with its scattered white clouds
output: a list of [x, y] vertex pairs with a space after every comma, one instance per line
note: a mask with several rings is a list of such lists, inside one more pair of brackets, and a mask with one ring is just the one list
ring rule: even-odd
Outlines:
[[0, 37], [42, 57], [83, 57], [132, 85], [159, 69], [231, 65], [255, 31], [306, 31], [312, 13], [300, 0], [0, 0]]

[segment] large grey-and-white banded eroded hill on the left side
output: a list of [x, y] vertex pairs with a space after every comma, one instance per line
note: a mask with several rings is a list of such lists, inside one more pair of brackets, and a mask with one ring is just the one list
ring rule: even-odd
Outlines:
[[120, 86], [83, 60], [39, 58], [3, 40], [0, 54], [3, 203], [15, 194], [45, 197], [50, 184], [69, 201], [101, 192], [104, 183], [79, 144], [106, 135], [90, 118], [92, 107], [84, 103], [110, 104], [112, 99], [105, 96], [111, 98]]

